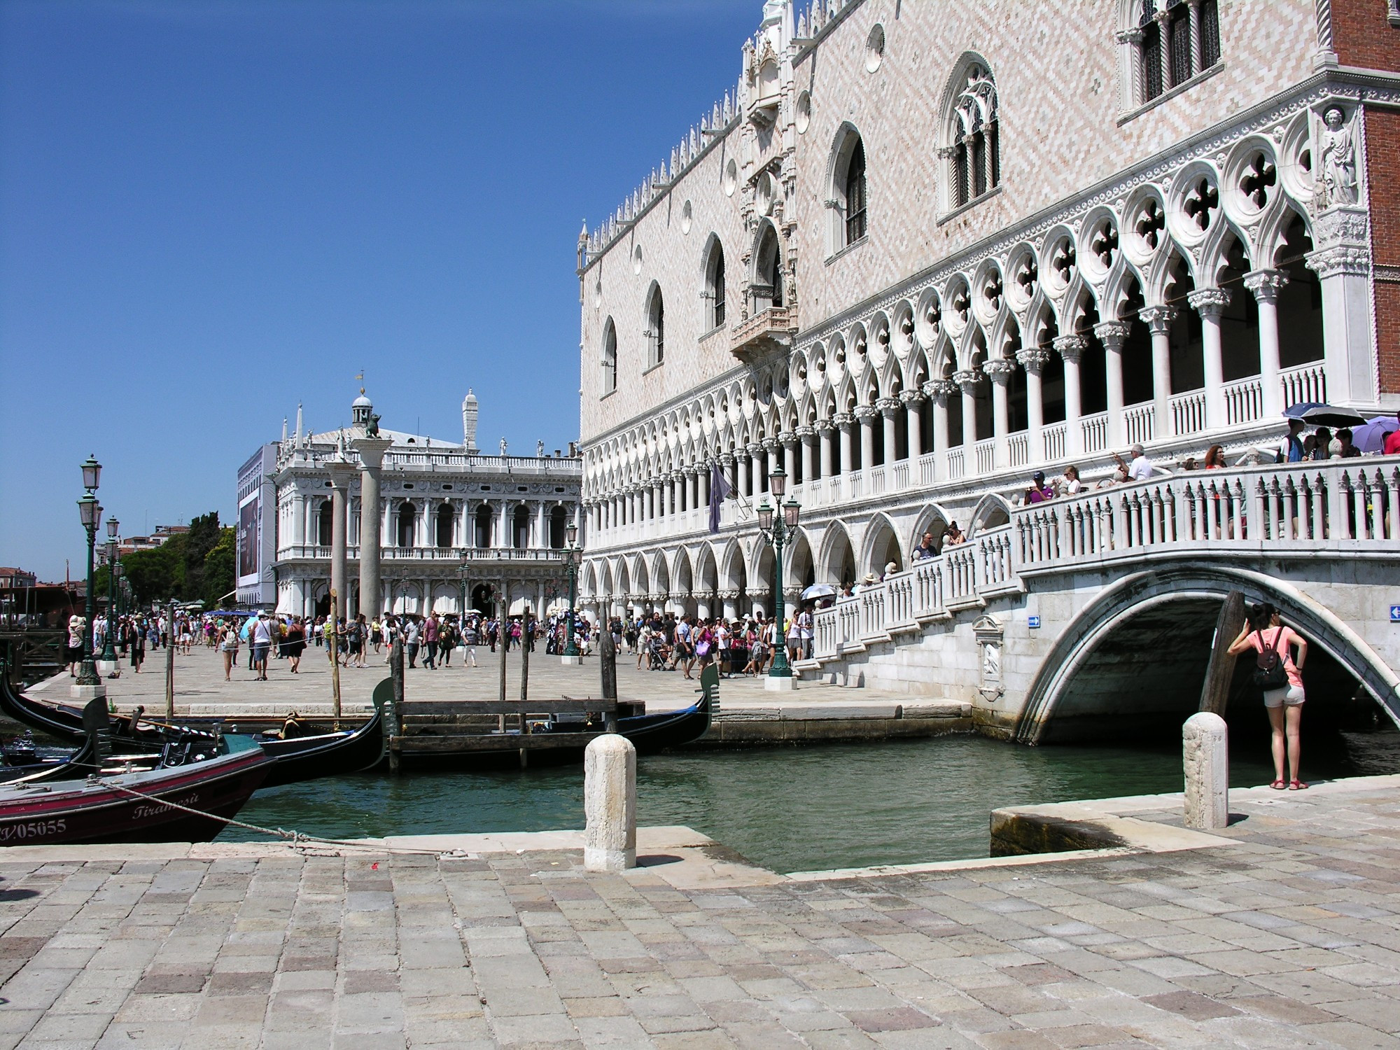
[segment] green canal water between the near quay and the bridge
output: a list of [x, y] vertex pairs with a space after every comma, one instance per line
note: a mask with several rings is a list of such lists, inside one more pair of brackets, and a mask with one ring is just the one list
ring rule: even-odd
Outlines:
[[[1306, 741], [1305, 741], [1306, 742]], [[1267, 736], [1231, 783], [1267, 784]], [[1400, 732], [1310, 742], [1305, 774], [1400, 771]], [[239, 818], [333, 839], [582, 827], [582, 767], [333, 777], [259, 791]], [[781, 872], [986, 857], [993, 809], [1182, 790], [1180, 746], [1025, 748], [941, 736], [687, 750], [637, 762], [641, 825], [687, 825]], [[260, 836], [231, 827], [220, 841]]]

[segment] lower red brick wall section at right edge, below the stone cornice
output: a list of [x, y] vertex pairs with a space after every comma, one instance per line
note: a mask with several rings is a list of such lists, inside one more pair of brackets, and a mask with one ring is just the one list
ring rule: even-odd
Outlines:
[[[1376, 4], [1385, 8], [1385, 4]], [[1336, 7], [1333, 8], [1336, 10]], [[1400, 31], [1396, 31], [1400, 34]], [[1400, 392], [1400, 112], [1366, 111], [1366, 186], [1376, 266], [1376, 344], [1380, 389]]]

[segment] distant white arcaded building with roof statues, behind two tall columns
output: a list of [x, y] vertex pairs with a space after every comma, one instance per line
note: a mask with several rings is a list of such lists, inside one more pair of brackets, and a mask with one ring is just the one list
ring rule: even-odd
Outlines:
[[483, 455], [477, 413], [469, 391], [455, 444], [381, 430], [363, 391], [350, 427], [305, 433], [298, 409], [238, 472], [239, 602], [325, 616], [335, 588], [351, 616], [489, 612], [493, 592], [512, 613], [566, 606], [575, 449]]

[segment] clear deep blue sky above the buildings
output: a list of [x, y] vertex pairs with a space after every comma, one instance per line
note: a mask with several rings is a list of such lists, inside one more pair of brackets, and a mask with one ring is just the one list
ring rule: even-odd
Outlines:
[[581, 221], [739, 76], [760, 0], [0, 0], [0, 564], [231, 519], [284, 416], [578, 431]]

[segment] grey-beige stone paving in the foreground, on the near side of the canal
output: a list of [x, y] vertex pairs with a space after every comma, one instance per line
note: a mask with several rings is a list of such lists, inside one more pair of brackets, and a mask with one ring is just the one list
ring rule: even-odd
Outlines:
[[21, 847], [0, 1046], [1393, 1047], [1397, 804], [1238, 791], [1205, 848], [846, 878], [685, 829], [627, 875], [567, 833]]

